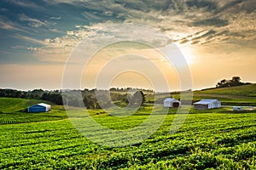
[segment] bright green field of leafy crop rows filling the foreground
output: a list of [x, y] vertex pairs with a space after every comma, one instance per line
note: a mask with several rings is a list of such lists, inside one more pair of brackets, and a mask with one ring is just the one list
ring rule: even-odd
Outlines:
[[[219, 91], [229, 98], [238, 95], [236, 88], [223, 90], [227, 91], [195, 93]], [[255, 104], [253, 92], [245, 94], [247, 90], [243, 89], [243, 93]], [[47, 113], [24, 111], [37, 102], [0, 98], [0, 169], [256, 169], [255, 110], [191, 109], [183, 126], [171, 134], [177, 111], [172, 109], [160, 128], [143, 142], [107, 147], [84, 138], [62, 106], [52, 105], [53, 110]], [[162, 106], [158, 107], [161, 111]], [[145, 105], [132, 116], [119, 118], [90, 110], [90, 116], [104, 127], [129, 129], [145, 122], [151, 109]], [[160, 116], [156, 114], [155, 119]]]

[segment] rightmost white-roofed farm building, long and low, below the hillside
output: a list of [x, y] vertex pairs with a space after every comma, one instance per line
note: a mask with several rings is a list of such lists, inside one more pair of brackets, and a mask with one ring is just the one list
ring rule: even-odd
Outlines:
[[221, 103], [218, 99], [201, 99], [201, 101], [196, 102], [193, 105], [196, 110], [207, 110], [221, 107]]

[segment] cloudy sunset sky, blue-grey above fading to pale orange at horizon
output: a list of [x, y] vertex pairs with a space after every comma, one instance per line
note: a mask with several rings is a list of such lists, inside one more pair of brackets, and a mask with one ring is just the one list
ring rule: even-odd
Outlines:
[[[1, 0], [0, 88], [104, 88], [92, 83], [101, 74], [109, 87], [153, 88], [161, 72], [178, 90], [187, 68], [193, 89], [215, 87], [234, 76], [256, 82], [255, 30], [254, 0]], [[140, 38], [154, 47], [125, 42]], [[105, 43], [111, 40], [120, 43]], [[81, 43], [86, 45], [81, 56], [97, 49], [94, 45], [102, 48], [88, 58], [82, 73], [73, 74], [79, 86], [63, 86], [67, 63]], [[184, 70], [156, 50], [165, 51], [170, 44], [186, 59]], [[69, 71], [84, 62], [76, 60]]]

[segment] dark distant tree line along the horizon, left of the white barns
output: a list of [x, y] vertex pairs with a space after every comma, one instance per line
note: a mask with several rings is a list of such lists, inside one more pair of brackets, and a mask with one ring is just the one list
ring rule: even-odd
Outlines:
[[[134, 93], [132, 93], [132, 91]], [[145, 102], [144, 93], [153, 94], [153, 90], [135, 89], [135, 88], [111, 88], [110, 90], [84, 89], [84, 90], [43, 90], [34, 89], [32, 91], [20, 91], [15, 89], [0, 89], [0, 97], [22, 98], [22, 99], [43, 99], [53, 102], [56, 105], [63, 105], [62, 95], [68, 96], [65, 105], [81, 106], [85, 105], [87, 109], [100, 109], [110, 107], [112, 101], [115, 105], [142, 105]], [[96, 94], [97, 97], [96, 97]], [[109, 98], [110, 94], [110, 98]], [[83, 98], [83, 103], [79, 103], [78, 96]]]

